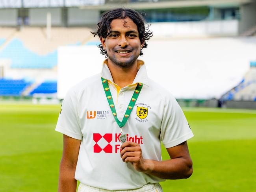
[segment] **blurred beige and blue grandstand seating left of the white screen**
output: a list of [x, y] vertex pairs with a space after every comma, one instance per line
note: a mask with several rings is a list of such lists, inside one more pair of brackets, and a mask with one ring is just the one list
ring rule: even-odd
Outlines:
[[[1, 89], [2, 96], [56, 93], [58, 47], [83, 45], [90, 43], [93, 37], [91, 29], [87, 27], [52, 28], [50, 40], [47, 39], [45, 28], [26, 27], [17, 30], [2, 27], [0, 30], [0, 60], [11, 59], [11, 65], [5, 66], [8, 81], [2, 79], [0, 82], [1, 88], [10, 83], [6, 87], [7, 90]], [[17, 73], [23, 73], [23, 76]], [[17, 77], [20, 79], [17, 80]], [[17, 83], [25, 81], [24, 79], [30, 80], [26, 86], [18, 89]], [[55, 81], [49, 83], [49, 79]], [[12, 91], [12, 87], [15, 87], [15, 90]]]

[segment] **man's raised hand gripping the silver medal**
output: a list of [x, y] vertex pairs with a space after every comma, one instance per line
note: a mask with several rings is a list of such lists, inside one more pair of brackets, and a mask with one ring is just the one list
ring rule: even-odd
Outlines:
[[147, 160], [143, 159], [141, 146], [135, 142], [126, 141], [121, 145], [121, 158], [124, 162], [131, 162], [135, 170], [145, 172]]

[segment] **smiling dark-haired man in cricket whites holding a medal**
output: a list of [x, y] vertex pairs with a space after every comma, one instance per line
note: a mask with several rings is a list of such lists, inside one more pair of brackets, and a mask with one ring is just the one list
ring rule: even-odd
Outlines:
[[[160, 181], [192, 172], [193, 137], [173, 96], [147, 77], [138, 60], [152, 33], [136, 11], [104, 13], [94, 33], [106, 54], [102, 73], [78, 83], [63, 101], [59, 192], [161, 192]], [[91, 65], [97, 65], [92, 63]], [[161, 143], [170, 160], [161, 161]]]

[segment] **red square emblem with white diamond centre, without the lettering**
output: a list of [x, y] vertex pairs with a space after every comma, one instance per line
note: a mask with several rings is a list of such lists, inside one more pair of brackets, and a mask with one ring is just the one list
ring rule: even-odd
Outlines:
[[[108, 144], [102, 149], [97, 142], [101, 139], [105, 139]], [[94, 153], [100, 153], [100, 151], [104, 151], [105, 153], [112, 153], [112, 146], [109, 144], [112, 141], [112, 133], [106, 133], [105, 135], [100, 135], [100, 133], [93, 133], [93, 140], [96, 144], [93, 146]]]

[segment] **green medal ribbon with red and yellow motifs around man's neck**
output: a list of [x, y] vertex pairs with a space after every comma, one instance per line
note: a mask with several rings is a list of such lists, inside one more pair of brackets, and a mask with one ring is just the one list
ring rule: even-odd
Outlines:
[[111, 95], [111, 92], [110, 92], [110, 89], [108, 86], [108, 81], [107, 81], [107, 79], [104, 79], [104, 78], [101, 78], [101, 80], [102, 80], [102, 85], [103, 85], [103, 88], [104, 88], [104, 91], [105, 91], [105, 94], [106, 94], [106, 97], [108, 100], [109, 107], [112, 111], [115, 121], [117, 122], [118, 126], [121, 128], [126, 124], [130, 114], [132, 113], [132, 109], [135, 105], [135, 102], [136, 102], [138, 96], [139, 96], [139, 93], [141, 92], [143, 84], [142, 83], [137, 84], [137, 87], [134, 90], [134, 94], [132, 95], [132, 99], [130, 100], [130, 103], [126, 109], [126, 112], [125, 112], [124, 117], [121, 122], [117, 118], [117, 111], [115, 110], [115, 104], [114, 104], [114, 101], [113, 101], [113, 98], [112, 98], [112, 95]]

